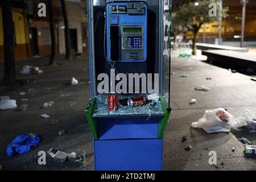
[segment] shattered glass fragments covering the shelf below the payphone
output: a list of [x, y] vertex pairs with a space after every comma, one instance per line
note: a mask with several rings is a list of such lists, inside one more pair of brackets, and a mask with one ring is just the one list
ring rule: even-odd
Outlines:
[[[109, 111], [108, 109], [108, 97], [104, 96], [95, 96], [96, 97], [96, 104], [94, 105], [93, 116], [100, 116], [100, 115], [138, 115], [138, 114], [164, 114], [163, 107], [160, 101], [156, 102], [155, 106], [150, 104], [139, 106], [139, 107], [129, 107], [129, 106], [122, 106], [118, 104], [118, 110]], [[119, 98], [119, 97], [118, 97]], [[120, 97], [122, 99], [125, 97]]]

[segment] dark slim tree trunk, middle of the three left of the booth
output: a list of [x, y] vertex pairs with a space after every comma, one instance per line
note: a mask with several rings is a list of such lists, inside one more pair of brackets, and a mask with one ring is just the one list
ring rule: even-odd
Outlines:
[[51, 32], [51, 47], [52, 47], [49, 65], [55, 65], [55, 28], [54, 28], [51, 0], [48, 0], [48, 11], [49, 11], [49, 26], [50, 26], [50, 32]]

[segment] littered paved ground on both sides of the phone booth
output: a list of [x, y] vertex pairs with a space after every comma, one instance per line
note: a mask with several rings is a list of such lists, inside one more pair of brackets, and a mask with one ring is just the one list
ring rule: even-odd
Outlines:
[[[234, 131], [218, 134], [207, 134], [200, 129], [191, 129], [191, 123], [200, 119], [206, 109], [224, 107], [238, 117], [243, 109], [250, 109], [256, 116], [256, 82], [249, 76], [230, 73], [227, 69], [218, 68], [201, 61], [201, 57], [178, 58], [178, 52], [172, 54], [171, 103], [172, 114], [164, 133], [163, 169], [164, 170], [255, 170], [256, 159], [245, 158], [243, 144], [237, 138], [247, 137], [256, 144], [255, 135], [246, 131]], [[0, 111], [0, 165], [5, 170], [93, 170], [92, 134], [84, 114], [90, 97], [88, 57], [65, 61], [58, 57], [61, 66], [48, 67], [47, 57], [17, 62], [17, 78], [22, 85], [0, 85], [0, 96], [9, 95], [17, 101], [18, 106], [28, 104], [26, 111]], [[34, 65], [43, 69], [41, 75], [19, 75], [23, 65]], [[0, 63], [0, 73], [3, 64]], [[180, 78], [179, 75], [189, 75]], [[79, 85], [70, 85], [71, 78], [80, 81]], [[212, 80], [207, 80], [211, 77]], [[2, 80], [2, 75], [0, 75]], [[27, 81], [28, 80], [28, 81]], [[209, 92], [196, 91], [197, 85], [208, 86]], [[28, 89], [35, 91], [28, 92]], [[26, 92], [20, 96], [20, 92]], [[27, 98], [28, 101], [20, 101]], [[197, 100], [189, 105], [192, 98]], [[44, 102], [54, 101], [55, 105], [42, 109]], [[41, 114], [48, 114], [50, 119], [57, 119], [55, 125], [46, 125], [47, 119]], [[59, 137], [58, 131], [66, 130], [67, 134]], [[6, 146], [16, 135], [35, 133], [40, 136], [38, 147], [28, 154], [8, 158]], [[184, 143], [181, 138], [187, 136]], [[184, 148], [191, 144], [191, 151]], [[232, 147], [236, 151], [232, 152]], [[47, 155], [47, 165], [38, 164], [38, 151], [56, 148], [65, 152], [86, 152], [86, 163], [65, 162], [58, 164]], [[209, 151], [216, 151], [217, 165], [210, 165]]]

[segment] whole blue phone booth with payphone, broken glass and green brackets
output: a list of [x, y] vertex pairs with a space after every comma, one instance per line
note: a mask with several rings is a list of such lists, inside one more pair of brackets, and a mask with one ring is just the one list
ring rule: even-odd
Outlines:
[[88, 1], [85, 113], [96, 170], [162, 169], [171, 114], [170, 19], [170, 0]]

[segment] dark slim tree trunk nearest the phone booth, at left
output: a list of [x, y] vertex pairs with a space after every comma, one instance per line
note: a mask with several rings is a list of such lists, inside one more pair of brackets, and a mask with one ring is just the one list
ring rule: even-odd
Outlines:
[[61, 7], [62, 7], [62, 15], [63, 15], [63, 19], [64, 19], [64, 26], [65, 26], [66, 59], [67, 60], [72, 60], [70, 35], [69, 35], [69, 24], [68, 24], [68, 15], [67, 15], [66, 3], [65, 3], [65, 0], [60, 0], [60, 1], [61, 1]]

